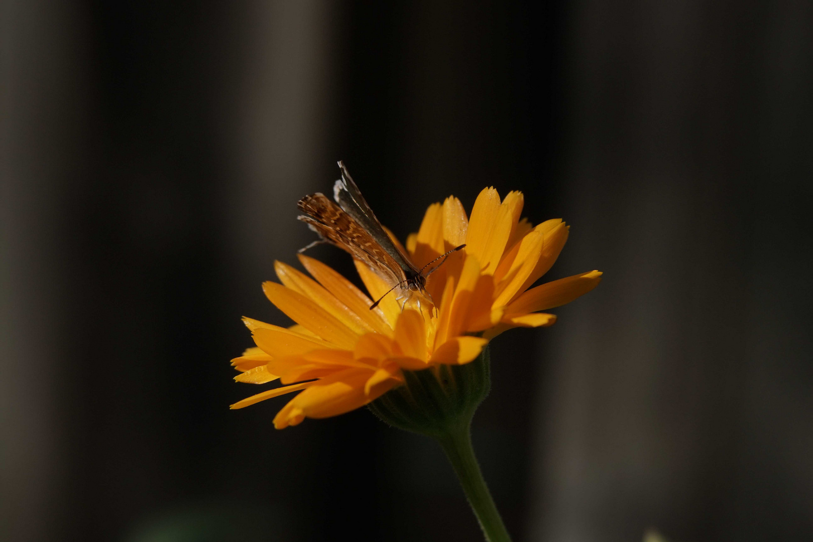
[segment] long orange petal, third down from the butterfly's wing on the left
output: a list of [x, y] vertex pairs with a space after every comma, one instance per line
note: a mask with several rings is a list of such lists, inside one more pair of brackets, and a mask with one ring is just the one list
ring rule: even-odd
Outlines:
[[324, 340], [341, 348], [353, 349], [355, 341], [359, 339], [358, 333], [301, 293], [270, 281], [263, 283], [263, 290], [279, 310]]

